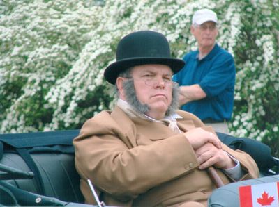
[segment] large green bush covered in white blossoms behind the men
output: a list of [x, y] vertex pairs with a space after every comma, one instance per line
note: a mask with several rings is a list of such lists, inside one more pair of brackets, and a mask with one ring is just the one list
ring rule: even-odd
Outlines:
[[218, 43], [236, 62], [231, 132], [266, 142], [278, 154], [278, 1], [92, 2], [0, 3], [1, 133], [79, 129], [112, 108], [112, 87], [103, 71], [115, 60], [123, 35], [159, 31], [172, 55], [181, 58], [197, 48], [190, 34], [193, 13], [210, 8], [220, 19]]

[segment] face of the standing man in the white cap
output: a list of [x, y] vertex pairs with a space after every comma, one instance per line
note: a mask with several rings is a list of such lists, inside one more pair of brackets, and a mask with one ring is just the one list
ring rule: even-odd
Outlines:
[[199, 26], [191, 26], [191, 33], [197, 40], [199, 47], [213, 47], [218, 35], [218, 28], [214, 22], [204, 22]]

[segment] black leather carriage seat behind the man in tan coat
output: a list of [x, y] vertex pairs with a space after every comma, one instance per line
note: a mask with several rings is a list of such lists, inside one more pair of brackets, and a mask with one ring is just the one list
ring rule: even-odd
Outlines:
[[[73, 138], [79, 132], [66, 130], [0, 135], [0, 180], [25, 192], [83, 204], [84, 197], [80, 192], [80, 176], [75, 170], [73, 147]], [[232, 149], [241, 149], [250, 154], [263, 176], [278, 173], [278, 160], [271, 156], [271, 150], [266, 144], [248, 138], [217, 134]], [[32, 179], [23, 179], [17, 173], [10, 176], [1, 173], [1, 166], [13, 167], [27, 174], [30, 172], [34, 176]], [[270, 171], [276, 166], [276, 172]]]

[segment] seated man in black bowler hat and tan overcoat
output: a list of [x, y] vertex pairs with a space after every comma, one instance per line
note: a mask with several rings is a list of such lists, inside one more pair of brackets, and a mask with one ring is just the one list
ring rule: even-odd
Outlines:
[[87, 180], [110, 206], [206, 206], [216, 182], [254, 179], [252, 158], [222, 144], [211, 126], [177, 110], [172, 75], [184, 66], [170, 56], [164, 35], [137, 31], [118, 44], [105, 79], [117, 104], [87, 120], [75, 138], [75, 166], [87, 204], [96, 204]]

